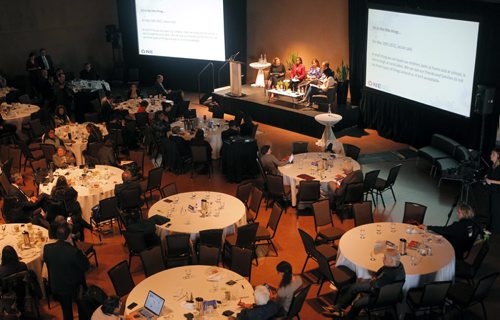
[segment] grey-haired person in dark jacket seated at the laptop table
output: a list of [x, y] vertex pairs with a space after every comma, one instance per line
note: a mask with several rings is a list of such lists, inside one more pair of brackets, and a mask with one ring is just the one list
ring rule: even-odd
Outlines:
[[256, 286], [254, 290], [254, 304], [238, 302], [243, 308], [237, 316], [237, 320], [267, 320], [273, 319], [278, 313], [278, 304], [270, 299], [270, 292], [265, 286]]

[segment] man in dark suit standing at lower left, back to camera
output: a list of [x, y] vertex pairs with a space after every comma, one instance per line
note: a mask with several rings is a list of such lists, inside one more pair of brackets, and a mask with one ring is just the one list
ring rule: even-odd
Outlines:
[[[49, 283], [63, 311], [64, 320], [73, 319], [73, 301], [82, 286], [85, 286], [85, 272], [89, 261], [83, 252], [70, 240], [71, 229], [67, 222], [57, 227], [57, 242], [47, 244], [43, 249], [43, 260], [47, 264]], [[78, 313], [84, 314], [78, 304]]]

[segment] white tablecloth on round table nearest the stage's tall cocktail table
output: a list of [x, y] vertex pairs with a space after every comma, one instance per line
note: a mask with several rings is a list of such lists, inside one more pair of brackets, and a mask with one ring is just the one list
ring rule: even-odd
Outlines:
[[[327, 170], [318, 170], [321, 166], [322, 159], [327, 159], [329, 168]], [[328, 182], [334, 181], [336, 176], [344, 175], [342, 169], [344, 162], [351, 162], [354, 170], [359, 170], [361, 167], [358, 162], [348, 157], [334, 158], [333, 154], [328, 152], [309, 152], [294, 155], [293, 163], [278, 167], [278, 170], [283, 175], [283, 183], [291, 187], [292, 206], [297, 204], [297, 191], [299, 190], [300, 181], [303, 180], [297, 177], [300, 174], [307, 174], [314, 177], [315, 180], [321, 182], [321, 189], [324, 193], [328, 191]]]

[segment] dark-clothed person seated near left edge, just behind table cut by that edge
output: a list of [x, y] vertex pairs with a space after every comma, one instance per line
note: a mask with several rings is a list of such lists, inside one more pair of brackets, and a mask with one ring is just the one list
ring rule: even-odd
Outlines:
[[[11, 177], [12, 190], [14, 191], [12, 196], [15, 198], [15, 207], [12, 208], [9, 214], [11, 215], [11, 222], [18, 223], [29, 223], [42, 226], [44, 228], [49, 228], [49, 223], [45, 220], [44, 211], [46, 212], [46, 202], [48, 195], [42, 193], [40, 195], [28, 197], [26, 193], [21, 189], [24, 186], [24, 178], [19, 173], [14, 173]], [[41, 209], [44, 209], [42, 211]]]

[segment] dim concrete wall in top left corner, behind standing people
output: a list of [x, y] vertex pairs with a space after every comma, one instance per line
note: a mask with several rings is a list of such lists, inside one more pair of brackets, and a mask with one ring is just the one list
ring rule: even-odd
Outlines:
[[0, 72], [24, 76], [28, 53], [43, 47], [66, 72], [78, 74], [90, 61], [105, 75], [112, 51], [104, 27], [117, 23], [116, 0], [2, 1]]

